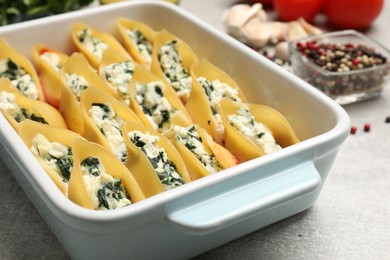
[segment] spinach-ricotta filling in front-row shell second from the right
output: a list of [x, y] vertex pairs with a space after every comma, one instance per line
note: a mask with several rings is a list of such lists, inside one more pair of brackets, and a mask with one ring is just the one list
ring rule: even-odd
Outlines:
[[210, 174], [222, 170], [215, 156], [202, 143], [202, 138], [198, 135], [194, 126], [182, 127], [175, 125], [172, 127], [172, 131], [175, 133], [175, 138], [196, 156]]

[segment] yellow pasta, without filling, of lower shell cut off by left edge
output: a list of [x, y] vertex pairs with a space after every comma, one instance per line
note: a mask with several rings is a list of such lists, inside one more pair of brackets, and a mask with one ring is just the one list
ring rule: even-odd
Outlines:
[[[42, 117], [49, 125], [66, 128], [66, 123], [62, 115], [54, 107], [50, 106], [47, 103], [39, 100], [33, 100], [22, 93], [20, 93], [16, 88], [14, 88], [7, 78], [0, 79], [0, 92], [5, 91], [11, 93], [15, 96], [15, 103], [18, 104], [21, 108], [25, 108], [27, 111], [34, 113]], [[17, 122], [11, 115], [3, 113], [7, 118], [11, 126], [18, 131], [19, 122]]]

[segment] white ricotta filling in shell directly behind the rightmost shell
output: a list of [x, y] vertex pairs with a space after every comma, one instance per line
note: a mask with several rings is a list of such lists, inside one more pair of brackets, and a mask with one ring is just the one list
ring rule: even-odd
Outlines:
[[205, 77], [198, 77], [197, 81], [203, 87], [203, 90], [207, 95], [211, 111], [217, 123], [217, 132], [223, 134], [224, 126], [220, 114], [219, 102], [225, 97], [241, 102], [241, 98], [238, 96], [238, 90], [218, 79], [210, 82]]

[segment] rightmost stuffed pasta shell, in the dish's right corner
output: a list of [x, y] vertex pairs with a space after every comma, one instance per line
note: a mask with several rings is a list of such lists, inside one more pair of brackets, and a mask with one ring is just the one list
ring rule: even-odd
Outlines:
[[287, 119], [271, 107], [221, 100], [225, 147], [240, 162], [281, 150], [299, 140]]

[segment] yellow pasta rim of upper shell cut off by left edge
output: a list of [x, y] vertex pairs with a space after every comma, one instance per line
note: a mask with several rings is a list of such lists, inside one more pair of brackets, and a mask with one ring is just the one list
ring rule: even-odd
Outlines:
[[22, 54], [13, 49], [4, 39], [0, 38], [0, 59], [11, 59], [19, 67], [23, 68], [27, 74], [29, 74], [34, 81], [37, 89], [37, 100], [45, 100], [45, 96], [42, 91], [41, 84], [37, 72], [31, 62]]

